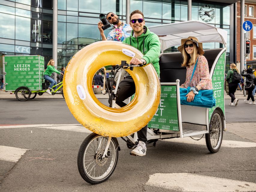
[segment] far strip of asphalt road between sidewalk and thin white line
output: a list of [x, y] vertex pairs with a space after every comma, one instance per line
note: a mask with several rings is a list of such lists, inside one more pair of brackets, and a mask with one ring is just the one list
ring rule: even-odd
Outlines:
[[[108, 99], [100, 99], [107, 105]], [[229, 106], [225, 100], [227, 122], [255, 122], [256, 105], [249, 105], [239, 100], [236, 107]], [[17, 101], [0, 100], [0, 124], [76, 124], [79, 123], [69, 111], [65, 100], [34, 99]], [[254, 117], [254, 118], [253, 118]]]

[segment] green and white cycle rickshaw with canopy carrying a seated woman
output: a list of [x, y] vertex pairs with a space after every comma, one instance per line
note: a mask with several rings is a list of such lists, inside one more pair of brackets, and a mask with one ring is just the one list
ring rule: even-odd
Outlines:
[[[155, 146], [160, 139], [201, 137], [202, 134], [205, 134], [206, 146], [209, 152], [218, 152], [222, 143], [223, 131], [226, 127], [224, 72], [227, 32], [199, 21], [152, 26], [149, 29], [159, 36], [162, 53], [159, 61], [161, 99], [157, 112], [148, 123], [148, 145], [153, 143]], [[222, 47], [204, 50], [204, 56], [208, 61], [210, 77], [212, 78], [213, 96], [216, 99], [215, 107], [204, 108], [180, 104], [179, 85], [180, 82], [185, 82], [186, 68], [180, 66], [182, 63], [180, 52], [164, 52], [164, 50], [180, 45], [181, 39], [189, 36], [196, 37], [199, 42], [218, 43]], [[132, 52], [129, 54], [128, 51], [127, 54], [132, 55]], [[139, 68], [139, 66], [131, 67], [123, 63], [120, 65], [120, 70], [126, 69], [129, 72], [128, 69], [131, 70], [133, 67]], [[119, 79], [120, 75], [121, 73], [119, 73]], [[113, 84], [111, 87], [113, 87]], [[114, 98], [117, 94], [118, 84], [119, 80], [114, 85], [115, 89], [111, 88], [107, 91], [112, 94], [110, 96], [112, 107], [115, 107]], [[125, 140], [129, 149], [137, 144], [136, 132], [121, 138]], [[96, 133], [90, 134], [80, 146], [77, 157], [81, 177], [90, 184], [106, 181], [116, 168], [119, 150], [120, 147], [116, 137], [106, 137]]]

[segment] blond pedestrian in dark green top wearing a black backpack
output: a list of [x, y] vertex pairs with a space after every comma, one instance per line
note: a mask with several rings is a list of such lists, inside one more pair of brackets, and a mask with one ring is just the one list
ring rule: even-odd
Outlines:
[[242, 76], [239, 74], [239, 70], [236, 68], [236, 64], [231, 63], [230, 70], [228, 70], [226, 77], [229, 89], [228, 95], [231, 97], [231, 102], [229, 103], [229, 105], [231, 106], [237, 106], [238, 104], [239, 100], [235, 97], [235, 91], [237, 88], [237, 84], [241, 80], [241, 77]]

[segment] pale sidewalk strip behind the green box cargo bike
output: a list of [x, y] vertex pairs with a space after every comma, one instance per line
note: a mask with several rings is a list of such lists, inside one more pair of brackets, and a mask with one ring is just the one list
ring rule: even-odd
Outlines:
[[[108, 99], [108, 94], [95, 94], [96, 98], [98, 99]], [[0, 99], [16, 99], [15, 94], [11, 91], [5, 92], [0, 91]], [[37, 95], [35, 99], [64, 99], [61, 94], [49, 95], [44, 93], [43, 95]], [[17, 99], [16, 99], [17, 100]], [[18, 101], [18, 100], [17, 100]]]

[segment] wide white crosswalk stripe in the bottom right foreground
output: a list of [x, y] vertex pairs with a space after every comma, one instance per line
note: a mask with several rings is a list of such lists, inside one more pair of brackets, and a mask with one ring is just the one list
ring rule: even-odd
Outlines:
[[179, 191], [226, 192], [255, 191], [256, 183], [201, 176], [191, 173], [155, 173], [149, 176], [147, 185]]

